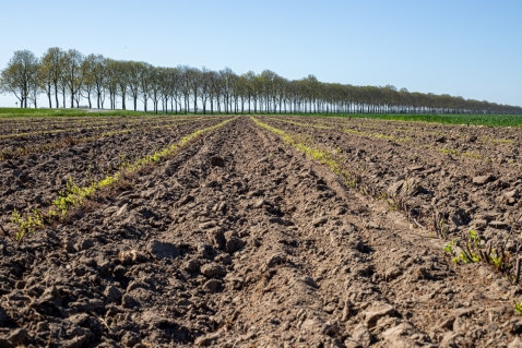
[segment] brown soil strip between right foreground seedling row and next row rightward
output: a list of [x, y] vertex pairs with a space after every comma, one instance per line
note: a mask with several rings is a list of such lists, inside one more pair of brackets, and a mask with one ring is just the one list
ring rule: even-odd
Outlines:
[[[265, 119], [269, 123], [271, 119]], [[476, 163], [381, 140], [360, 139], [335, 130], [310, 129], [278, 122], [277, 127], [295, 134], [306, 134], [318, 146], [336, 153], [353, 171], [390, 196], [401, 191], [401, 182], [410, 180], [416, 192], [412, 206], [434, 206], [446, 211], [449, 232], [485, 229], [489, 235], [502, 233], [520, 218], [519, 194], [522, 177], [517, 168], [496, 163]]]

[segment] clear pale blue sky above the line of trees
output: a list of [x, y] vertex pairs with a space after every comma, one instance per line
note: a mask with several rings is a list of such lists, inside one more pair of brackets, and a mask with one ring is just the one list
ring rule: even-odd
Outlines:
[[0, 69], [15, 50], [57, 46], [522, 106], [521, 0], [2, 0], [0, 11]]

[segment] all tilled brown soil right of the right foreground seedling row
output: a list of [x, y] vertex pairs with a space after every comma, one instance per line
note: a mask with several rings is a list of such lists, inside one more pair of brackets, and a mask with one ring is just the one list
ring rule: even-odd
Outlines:
[[[511, 163], [508, 164], [502, 155], [499, 155], [499, 160], [485, 160], [443, 153], [440, 137], [394, 142], [368, 134], [346, 133], [346, 129], [349, 131], [353, 127], [346, 121], [330, 123], [331, 129], [296, 125], [280, 119], [264, 121], [292, 134], [309, 136], [313, 144], [336, 152], [343, 164], [349, 170], [358, 171], [361, 181], [377, 192], [394, 195], [406, 191], [406, 185], [410, 185], [413, 192], [408, 192], [408, 203], [424, 213], [430, 207], [444, 211], [450, 223], [449, 232], [466, 231], [472, 227], [493, 238], [511, 231], [513, 225], [521, 221], [522, 157], [517, 155], [522, 141], [520, 130], [499, 129], [497, 137], [493, 137], [495, 129], [490, 128], [444, 127], [443, 140], [450, 148], [475, 146], [475, 153], [509, 153]], [[391, 130], [390, 122], [371, 123], [373, 129]], [[437, 128], [441, 125], [434, 125], [432, 131]], [[420, 129], [429, 134], [426, 125]], [[465, 134], [483, 141], [468, 143], [463, 140]], [[502, 135], [512, 143], [499, 145], [491, 142], [501, 140]], [[486, 139], [490, 141], [486, 142]], [[437, 145], [426, 147], [426, 143]]]

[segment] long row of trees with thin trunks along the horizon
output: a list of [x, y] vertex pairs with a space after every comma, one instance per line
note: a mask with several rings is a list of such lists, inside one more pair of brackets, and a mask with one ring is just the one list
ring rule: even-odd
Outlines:
[[[385, 113], [522, 113], [521, 107], [398, 91], [394, 86], [323, 83], [316, 76], [287, 80], [265, 70], [238, 75], [226, 68], [211, 71], [187, 65], [153, 67], [75, 49], [49, 48], [41, 58], [15, 51], [0, 74], [0, 92], [11, 93], [21, 107], [37, 107], [43, 94], [49, 108], [130, 107], [170, 112], [385, 112]], [[106, 104], [108, 100], [108, 105]]]

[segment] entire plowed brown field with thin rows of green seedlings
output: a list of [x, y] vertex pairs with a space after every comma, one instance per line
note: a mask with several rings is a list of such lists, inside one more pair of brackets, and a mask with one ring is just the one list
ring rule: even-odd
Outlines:
[[522, 347], [520, 129], [1, 125], [0, 347]]

